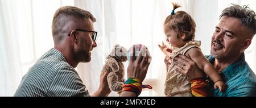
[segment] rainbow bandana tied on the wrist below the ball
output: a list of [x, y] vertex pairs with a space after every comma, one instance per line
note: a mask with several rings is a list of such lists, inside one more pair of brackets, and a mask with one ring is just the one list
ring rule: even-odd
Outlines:
[[152, 89], [150, 85], [142, 85], [142, 82], [139, 79], [133, 78], [133, 77], [128, 78], [125, 81], [125, 84], [122, 85], [122, 88], [123, 88], [122, 92], [123, 91], [133, 92], [136, 94], [137, 97], [139, 94], [141, 94], [142, 88]]

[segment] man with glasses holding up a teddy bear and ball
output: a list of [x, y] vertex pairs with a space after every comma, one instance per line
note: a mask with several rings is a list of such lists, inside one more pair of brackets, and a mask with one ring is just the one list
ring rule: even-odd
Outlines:
[[[92, 49], [97, 47], [94, 22], [96, 19], [89, 11], [73, 6], [60, 7], [52, 22], [54, 48], [44, 53], [28, 70], [14, 96], [90, 96], [74, 68], [79, 63], [89, 62]], [[131, 57], [127, 76], [143, 81], [150, 63], [142, 62], [147, 57], [140, 58]], [[101, 73], [100, 87], [92, 96], [109, 95], [107, 75], [108, 72]], [[136, 94], [124, 91], [121, 96]]]

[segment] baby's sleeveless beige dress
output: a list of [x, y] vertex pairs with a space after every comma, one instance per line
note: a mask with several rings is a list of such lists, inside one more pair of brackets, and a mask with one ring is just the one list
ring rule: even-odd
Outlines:
[[[179, 54], [184, 55], [188, 49], [193, 47], [200, 49], [200, 41], [189, 41], [181, 48], [174, 47], [171, 53], [172, 61], [174, 61], [174, 57]], [[183, 74], [176, 72], [176, 67], [177, 66], [172, 62], [167, 70], [166, 82], [164, 84], [164, 94], [170, 97], [191, 97], [192, 93], [190, 81]]]

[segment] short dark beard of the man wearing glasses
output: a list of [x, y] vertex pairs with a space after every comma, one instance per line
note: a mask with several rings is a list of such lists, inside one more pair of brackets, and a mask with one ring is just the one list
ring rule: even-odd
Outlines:
[[79, 51], [75, 52], [74, 59], [78, 63], [88, 63], [91, 58], [89, 52], [85, 52], [79, 49]]

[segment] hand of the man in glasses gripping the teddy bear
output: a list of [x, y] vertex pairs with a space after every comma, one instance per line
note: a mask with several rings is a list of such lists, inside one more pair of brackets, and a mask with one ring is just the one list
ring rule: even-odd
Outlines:
[[107, 76], [109, 72], [101, 72], [101, 77], [100, 77], [100, 87], [98, 90], [93, 93], [92, 96], [94, 97], [106, 97], [110, 94], [110, 89], [109, 89], [109, 84], [107, 81]]

